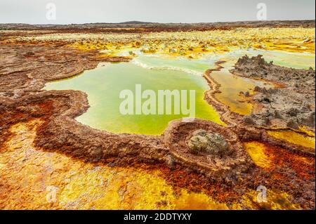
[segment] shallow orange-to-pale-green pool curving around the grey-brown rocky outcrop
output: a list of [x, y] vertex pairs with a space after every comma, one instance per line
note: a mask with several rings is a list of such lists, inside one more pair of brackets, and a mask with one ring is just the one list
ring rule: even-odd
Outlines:
[[275, 65], [283, 67], [293, 67], [296, 69], [308, 69], [312, 67], [315, 69], [315, 55], [310, 53], [289, 53], [282, 51], [235, 51], [222, 55], [220, 60], [224, 60], [222, 64], [224, 67], [220, 71], [213, 71], [211, 77], [220, 84], [220, 93], [216, 93], [215, 97], [221, 103], [228, 105], [232, 112], [238, 114], [251, 114], [253, 105], [247, 103], [246, 99], [240, 92], [249, 92], [254, 94], [254, 88], [260, 86], [261, 88], [275, 88], [272, 84], [265, 81], [254, 79], [247, 79], [244, 77], [237, 77], [230, 73], [229, 70], [233, 69], [233, 65], [238, 58], [243, 55], [249, 57], [256, 55], [263, 55], [266, 61], [273, 61]]

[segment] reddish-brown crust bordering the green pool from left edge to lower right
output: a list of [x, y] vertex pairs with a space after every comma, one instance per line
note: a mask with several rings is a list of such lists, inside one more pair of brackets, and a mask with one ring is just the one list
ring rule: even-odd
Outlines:
[[[174, 185], [204, 190], [220, 202], [232, 202], [246, 189], [266, 185], [289, 192], [292, 203], [299, 203], [305, 209], [315, 208], [315, 150], [269, 136], [270, 126], [245, 124], [244, 117], [230, 112], [213, 98], [218, 84], [209, 77], [211, 70], [204, 75], [212, 88], [205, 98], [220, 112], [227, 127], [195, 119], [172, 121], [162, 136], [114, 134], [91, 129], [74, 120], [88, 109], [86, 93], [41, 88], [47, 81], [72, 77], [96, 67], [99, 62], [128, 61], [128, 58], [104, 58], [98, 51], [79, 51], [61, 44], [1, 44], [0, 53], [0, 153], [1, 145], [10, 138], [9, 128], [13, 124], [40, 118], [44, 124], [37, 131], [35, 145], [43, 150], [62, 152], [88, 162], [101, 161], [109, 166], [155, 164]], [[264, 63], [259, 69], [284, 71], [274, 66]], [[216, 69], [220, 68], [218, 62]], [[244, 70], [239, 72], [247, 74]], [[220, 133], [232, 153], [223, 157], [191, 154], [187, 138], [198, 129]], [[254, 166], [243, 145], [253, 140], [265, 144], [270, 168]], [[304, 166], [298, 166], [301, 159], [298, 155], [307, 161]]]

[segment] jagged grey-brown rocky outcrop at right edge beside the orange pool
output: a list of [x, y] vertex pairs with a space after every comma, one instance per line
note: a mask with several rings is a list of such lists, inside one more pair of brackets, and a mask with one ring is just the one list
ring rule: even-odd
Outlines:
[[260, 88], [252, 101], [260, 110], [254, 110], [244, 122], [251, 125], [268, 127], [289, 127], [299, 129], [308, 126], [315, 132], [315, 71], [296, 70], [273, 65], [261, 55], [249, 58], [244, 56], [231, 71], [252, 79], [264, 79], [284, 84], [283, 88]]

